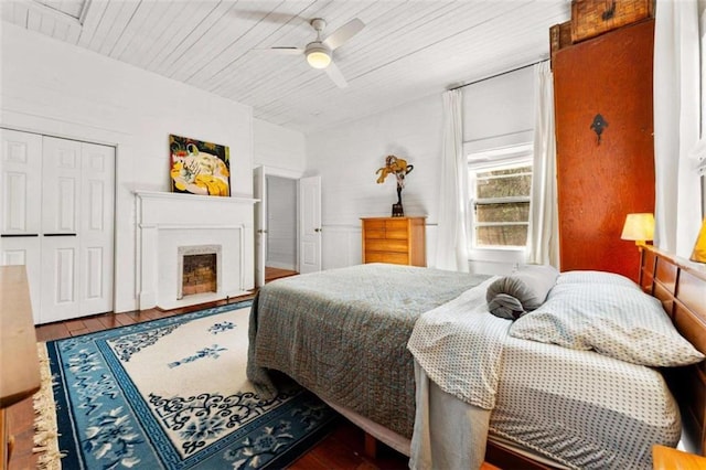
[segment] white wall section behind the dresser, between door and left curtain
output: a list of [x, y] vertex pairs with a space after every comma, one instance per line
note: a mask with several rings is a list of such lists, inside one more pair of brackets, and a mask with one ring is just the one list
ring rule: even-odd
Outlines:
[[405, 214], [428, 215], [427, 223], [435, 226], [440, 122], [441, 100], [435, 96], [307, 135], [307, 173], [322, 177], [324, 269], [360, 264], [360, 217], [391, 215], [397, 202], [395, 179], [375, 182], [388, 154], [415, 167], [405, 180]]

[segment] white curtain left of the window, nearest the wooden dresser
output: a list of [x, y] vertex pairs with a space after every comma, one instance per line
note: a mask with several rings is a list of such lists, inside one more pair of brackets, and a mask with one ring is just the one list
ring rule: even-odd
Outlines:
[[468, 162], [463, 154], [463, 120], [460, 89], [443, 94], [443, 148], [441, 194], [437, 233], [439, 269], [468, 273]]

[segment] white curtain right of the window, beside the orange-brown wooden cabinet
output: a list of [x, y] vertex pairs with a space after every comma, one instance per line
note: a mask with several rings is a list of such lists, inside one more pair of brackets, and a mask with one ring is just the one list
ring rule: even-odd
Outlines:
[[535, 121], [532, 200], [527, 233], [527, 263], [559, 267], [556, 199], [556, 139], [554, 137], [554, 78], [549, 62], [534, 66]]

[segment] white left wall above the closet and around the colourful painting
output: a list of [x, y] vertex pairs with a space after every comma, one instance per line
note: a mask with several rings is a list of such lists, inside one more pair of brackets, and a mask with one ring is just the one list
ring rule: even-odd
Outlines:
[[[6, 22], [0, 28], [0, 125], [117, 148], [115, 311], [133, 310], [132, 192], [169, 191], [168, 138], [175, 133], [228, 146], [232, 193], [250, 197], [252, 109]], [[245, 252], [252, 287], [252, 243]]]

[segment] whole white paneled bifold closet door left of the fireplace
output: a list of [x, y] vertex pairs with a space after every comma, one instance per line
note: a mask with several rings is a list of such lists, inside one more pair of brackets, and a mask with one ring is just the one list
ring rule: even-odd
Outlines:
[[2, 130], [0, 263], [26, 265], [35, 323], [113, 310], [115, 149]]

